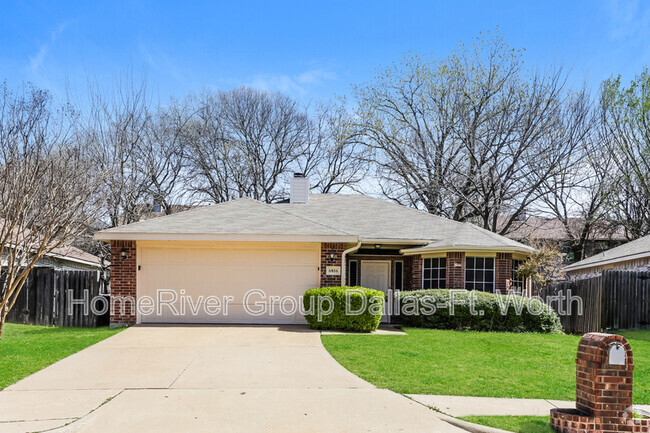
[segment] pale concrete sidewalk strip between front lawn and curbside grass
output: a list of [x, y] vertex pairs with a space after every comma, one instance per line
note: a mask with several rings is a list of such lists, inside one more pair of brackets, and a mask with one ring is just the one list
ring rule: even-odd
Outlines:
[[[451, 416], [469, 415], [536, 415], [546, 416], [554, 407], [575, 408], [573, 401], [459, 397], [455, 395], [406, 394], [407, 397], [439, 410]], [[643, 410], [650, 410], [650, 405], [638, 405]]]

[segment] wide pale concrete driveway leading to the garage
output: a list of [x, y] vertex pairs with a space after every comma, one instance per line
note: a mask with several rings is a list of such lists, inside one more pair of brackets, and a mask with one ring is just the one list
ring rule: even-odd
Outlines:
[[52, 428], [462, 431], [348, 372], [298, 326], [133, 327], [0, 392], [0, 432]]

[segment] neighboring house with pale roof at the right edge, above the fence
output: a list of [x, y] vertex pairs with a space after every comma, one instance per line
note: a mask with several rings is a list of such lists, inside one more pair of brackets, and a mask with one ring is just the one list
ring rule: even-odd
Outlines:
[[589, 278], [604, 270], [650, 271], [650, 236], [573, 263], [564, 270], [570, 278]]

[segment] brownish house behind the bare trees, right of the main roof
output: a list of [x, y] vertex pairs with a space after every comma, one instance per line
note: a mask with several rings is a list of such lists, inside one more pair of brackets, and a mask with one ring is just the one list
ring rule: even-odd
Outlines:
[[[502, 218], [502, 220], [505, 224], [506, 218]], [[574, 238], [577, 239], [585, 226], [585, 219], [569, 218], [568, 226]], [[520, 221], [515, 221], [506, 236], [519, 242], [530, 240], [556, 242], [560, 251], [565, 254], [567, 263], [573, 263], [582, 258], [582, 251], [576, 249], [575, 244], [567, 235], [567, 228], [557, 218], [523, 215]], [[587, 237], [584, 257], [599, 254], [624, 242], [627, 242], [627, 238], [622, 228], [601, 222], [591, 230]]]

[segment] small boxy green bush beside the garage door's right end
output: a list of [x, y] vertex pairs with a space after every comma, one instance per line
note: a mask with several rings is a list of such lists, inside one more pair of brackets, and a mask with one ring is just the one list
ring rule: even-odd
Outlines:
[[[347, 311], [360, 313], [346, 314], [346, 304]], [[379, 327], [384, 292], [365, 287], [321, 287], [307, 290], [303, 305], [312, 329], [372, 332]]]

